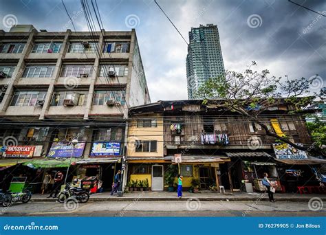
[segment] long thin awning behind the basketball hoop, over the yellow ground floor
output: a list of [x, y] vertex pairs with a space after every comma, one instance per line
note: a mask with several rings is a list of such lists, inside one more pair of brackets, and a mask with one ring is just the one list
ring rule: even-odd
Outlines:
[[[170, 159], [172, 163], [174, 161], [173, 156], [166, 156], [164, 159]], [[221, 163], [223, 164], [226, 161], [231, 161], [229, 157], [223, 155], [183, 155], [182, 156], [182, 164], [184, 163], [193, 163], [193, 164], [202, 164], [202, 163]]]

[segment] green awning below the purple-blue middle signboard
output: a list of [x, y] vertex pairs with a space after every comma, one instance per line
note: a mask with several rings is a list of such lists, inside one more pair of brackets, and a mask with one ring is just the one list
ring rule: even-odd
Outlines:
[[[77, 161], [77, 158], [72, 158], [72, 163]], [[70, 158], [63, 159], [37, 159], [32, 161], [26, 161], [25, 166], [32, 164], [34, 168], [66, 168], [69, 166]]]

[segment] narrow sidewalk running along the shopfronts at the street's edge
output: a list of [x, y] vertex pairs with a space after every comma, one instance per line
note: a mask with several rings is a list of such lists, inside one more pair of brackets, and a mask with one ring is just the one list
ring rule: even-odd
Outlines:
[[[33, 194], [32, 201], [56, 201], [56, 199], [47, 199], [49, 194]], [[309, 201], [313, 197], [318, 197], [326, 201], [326, 194], [292, 194], [292, 193], [276, 193], [274, 199], [276, 201]], [[268, 194], [257, 192], [199, 192], [190, 193], [183, 192], [182, 199], [177, 198], [176, 192], [128, 192], [123, 197], [117, 197], [116, 194], [110, 196], [109, 192], [91, 194], [89, 201], [184, 201], [188, 199], [199, 199], [201, 201], [268, 201]]]

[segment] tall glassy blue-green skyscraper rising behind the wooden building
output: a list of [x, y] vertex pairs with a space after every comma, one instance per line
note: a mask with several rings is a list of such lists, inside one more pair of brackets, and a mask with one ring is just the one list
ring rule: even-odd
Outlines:
[[225, 74], [217, 25], [192, 27], [186, 58], [188, 99], [194, 99], [198, 88], [208, 78]]

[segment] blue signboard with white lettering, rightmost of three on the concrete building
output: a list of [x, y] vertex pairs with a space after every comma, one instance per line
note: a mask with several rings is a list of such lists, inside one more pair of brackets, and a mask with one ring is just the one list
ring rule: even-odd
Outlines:
[[120, 155], [120, 143], [116, 142], [95, 142], [91, 147], [90, 157], [107, 157]]

